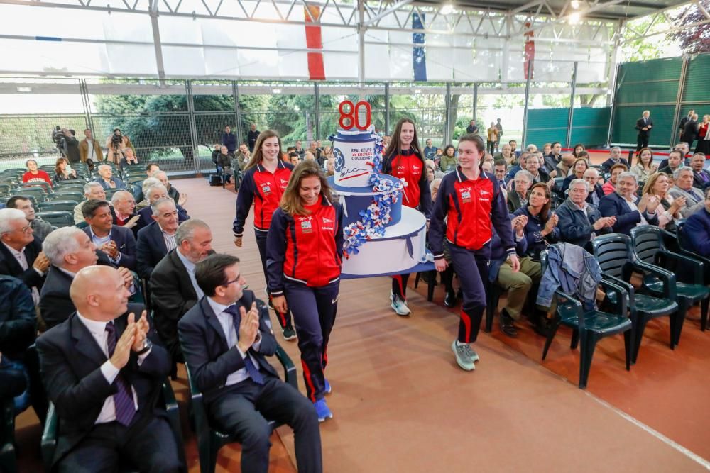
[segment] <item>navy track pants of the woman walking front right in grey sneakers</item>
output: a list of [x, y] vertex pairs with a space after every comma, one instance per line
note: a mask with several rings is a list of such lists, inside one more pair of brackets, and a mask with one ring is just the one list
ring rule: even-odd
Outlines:
[[486, 243], [480, 250], [466, 250], [449, 242], [452, 265], [459, 275], [464, 302], [459, 320], [459, 342], [475, 342], [481, 328], [481, 318], [486, 310], [486, 281], [491, 262], [491, 247]]

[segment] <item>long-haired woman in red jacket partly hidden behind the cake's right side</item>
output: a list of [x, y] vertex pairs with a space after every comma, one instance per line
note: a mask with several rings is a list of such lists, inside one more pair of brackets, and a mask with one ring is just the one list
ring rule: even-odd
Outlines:
[[[404, 179], [407, 185], [403, 189], [402, 204], [423, 213], [428, 223], [432, 213], [432, 195], [423, 156], [414, 122], [402, 118], [397, 122], [390, 145], [385, 150], [382, 172]], [[411, 313], [407, 306], [408, 281], [409, 274], [392, 277], [390, 302], [398, 316]]]

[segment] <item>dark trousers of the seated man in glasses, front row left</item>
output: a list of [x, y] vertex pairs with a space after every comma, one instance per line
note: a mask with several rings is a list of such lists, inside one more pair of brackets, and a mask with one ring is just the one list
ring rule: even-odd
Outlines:
[[268, 472], [271, 428], [266, 419], [293, 428], [299, 472], [322, 472], [320, 429], [315, 407], [290, 384], [268, 374], [264, 379], [263, 385], [246, 379], [228, 386], [208, 406], [214, 425], [239, 439], [241, 472]]

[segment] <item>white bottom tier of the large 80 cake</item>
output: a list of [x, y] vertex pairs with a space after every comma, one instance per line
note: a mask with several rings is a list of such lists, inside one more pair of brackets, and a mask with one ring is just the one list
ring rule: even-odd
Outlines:
[[343, 260], [342, 272], [371, 276], [403, 272], [425, 261], [427, 219], [413, 208], [402, 208], [402, 220], [385, 235], [361, 245], [357, 255]]

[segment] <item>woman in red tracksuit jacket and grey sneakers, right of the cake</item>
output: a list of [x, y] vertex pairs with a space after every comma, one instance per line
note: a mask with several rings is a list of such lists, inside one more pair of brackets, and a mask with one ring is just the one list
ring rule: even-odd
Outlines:
[[506, 198], [493, 174], [480, 168], [485, 152], [480, 136], [459, 138], [459, 166], [442, 179], [429, 228], [437, 271], [447, 268], [443, 248], [447, 245], [464, 293], [459, 336], [451, 347], [458, 365], [466, 371], [474, 369], [474, 362], [479, 359], [469, 343], [476, 341], [486, 309], [491, 224], [508, 253], [513, 272], [520, 269]]

